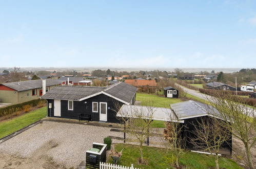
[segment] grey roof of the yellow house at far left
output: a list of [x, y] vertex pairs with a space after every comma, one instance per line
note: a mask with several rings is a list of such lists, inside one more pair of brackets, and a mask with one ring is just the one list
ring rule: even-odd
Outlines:
[[[45, 79], [45, 80], [46, 80], [47, 87], [61, 84], [60, 81], [57, 81], [57, 80], [53, 80], [53, 79]], [[42, 88], [43, 82], [42, 82], [42, 79], [40, 79], [40, 80], [27, 80], [27, 81], [2, 83], [2, 85], [8, 88], [14, 89], [16, 91], [25, 91], [30, 89]]]

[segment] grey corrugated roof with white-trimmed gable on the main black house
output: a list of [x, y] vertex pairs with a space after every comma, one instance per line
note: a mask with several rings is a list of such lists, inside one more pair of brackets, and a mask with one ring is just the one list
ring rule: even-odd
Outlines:
[[129, 104], [136, 91], [137, 88], [124, 82], [115, 83], [109, 87], [59, 86], [54, 87], [42, 96], [42, 98], [82, 101], [96, 95], [105, 94], [116, 100]]

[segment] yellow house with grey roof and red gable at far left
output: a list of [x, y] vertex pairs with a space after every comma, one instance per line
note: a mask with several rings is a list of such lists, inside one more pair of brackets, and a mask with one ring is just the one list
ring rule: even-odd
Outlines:
[[[61, 83], [46, 79], [46, 91]], [[40, 98], [43, 95], [42, 80], [27, 80], [0, 84], [0, 102], [18, 103]]]

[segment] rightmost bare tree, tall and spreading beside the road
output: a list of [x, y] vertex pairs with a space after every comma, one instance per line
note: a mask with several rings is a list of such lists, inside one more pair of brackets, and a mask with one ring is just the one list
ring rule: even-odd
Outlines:
[[220, 117], [229, 125], [228, 129], [232, 135], [244, 143], [247, 164], [250, 168], [254, 168], [250, 150], [256, 144], [255, 108], [247, 107], [242, 97], [234, 98], [227, 94], [215, 95], [208, 99], [212, 107], [220, 112]]

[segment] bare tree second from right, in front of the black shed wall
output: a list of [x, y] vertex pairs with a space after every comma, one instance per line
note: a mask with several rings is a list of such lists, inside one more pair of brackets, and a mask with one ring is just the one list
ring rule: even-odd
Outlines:
[[202, 117], [192, 123], [194, 130], [190, 142], [195, 149], [208, 151], [214, 155], [215, 167], [219, 169], [219, 154], [223, 145], [228, 145], [231, 140], [226, 122], [214, 117]]

